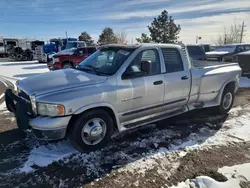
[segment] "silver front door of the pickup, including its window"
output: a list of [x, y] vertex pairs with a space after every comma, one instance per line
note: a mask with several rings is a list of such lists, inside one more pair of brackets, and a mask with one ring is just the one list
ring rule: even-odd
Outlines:
[[[151, 72], [142, 73], [142, 61], [150, 62]], [[118, 91], [120, 123], [124, 126], [134, 126], [159, 114], [164, 98], [163, 81], [158, 50], [148, 49], [140, 52], [118, 81], [121, 88]]]

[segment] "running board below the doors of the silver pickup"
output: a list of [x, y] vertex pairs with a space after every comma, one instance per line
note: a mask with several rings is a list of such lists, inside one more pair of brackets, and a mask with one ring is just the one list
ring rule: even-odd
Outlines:
[[175, 116], [175, 115], [182, 114], [182, 113], [184, 113], [186, 111], [188, 111], [187, 108], [183, 107], [183, 108], [180, 108], [180, 109], [175, 110], [173, 112], [169, 112], [169, 113], [162, 114], [162, 115], [159, 115], [159, 116], [156, 116], [156, 117], [152, 117], [152, 118], [149, 118], [149, 119], [145, 119], [145, 120], [142, 120], [142, 121], [138, 121], [138, 122], [135, 122], [135, 123], [124, 125], [124, 127], [127, 128], [127, 129], [139, 127], [139, 126], [142, 126], [142, 125], [146, 125], [146, 124], [157, 122], [157, 121], [160, 121], [160, 120], [163, 120], [163, 119], [167, 119], [167, 118], [170, 118], [170, 117]]

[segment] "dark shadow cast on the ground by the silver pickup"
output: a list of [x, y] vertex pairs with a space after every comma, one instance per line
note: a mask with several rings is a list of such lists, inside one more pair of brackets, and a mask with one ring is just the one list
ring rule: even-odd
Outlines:
[[[228, 115], [215, 116], [211, 109], [188, 112], [158, 122], [157, 124], [116, 134], [112, 138], [112, 143], [102, 150], [91, 153], [76, 152], [46, 167], [39, 167], [34, 164], [33, 168], [36, 169], [35, 172], [29, 174], [8, 174], [8, 176], [0, 177], [0, 181], [10, 184], [10, 187], [13, 187], [20, 183], [35, 181], [36, 178], [34, 177], [39, 177], [40, 181], [36, 182], [37, 186], [48, 186], [50, 179], [60, 179], [63, 181], [67, 179], [67, 183], [65, 184], [70, 187], [82, 186], [92, 182], [96, 178], [106, 176], [114, 169], [121, 168], [141, 159], [150, 158], [159, 152], [163, 151], [167, 154], [170, 151], [183, 149], [187, 145], [199, 145], [220, 130], [227, 118]], [[13, 130], [13, 134], [14, 132], [15, 130]], [[11, 134], [11, 131], [0, 133], [0, 138]], [[0, 160], [4, 160], [4, 158], [10, 155], [23, 157], [23, 154], [25, 154], [23, 158], [27, 160], [27, 153], [29, 153], [32, 147], [35, 147], [29, 146], [33, 142], [37, 145], [37, 141], [26, 138], [22, 139], [19, 149], [15, 150], [13, 149], [15, 147], [12, 147], [12, 149], [7, 149], [9, 151], [5, 150], [5, 154], [0, 157]], [[54, 144], [55, 146], [53, 147], [56, 148], [57, 143], [60, 142], [50, 143], [50, 145]], [[40, 145], [44, 147], [43, 142], [40, 142]], [[12, 166], [11, 164], [8, 165], [9, 167]], [[7, 171], [8, 168], [6, 164], [0, 164], [1, 171]], [[23, 182], [24, 179], [25, 182]], [[53, 182], [50, 186], [59, 186], [59, 181]]]

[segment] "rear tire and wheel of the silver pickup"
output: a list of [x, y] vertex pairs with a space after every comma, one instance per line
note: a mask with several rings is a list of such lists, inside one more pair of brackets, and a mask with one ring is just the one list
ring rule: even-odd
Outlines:
[[234, 97], [234, 88], [226, 87], [221, 97], [221, 103], [218, 106], [218, 111], [220, 114], [226, 114], [231, 110], [234, 102]]

